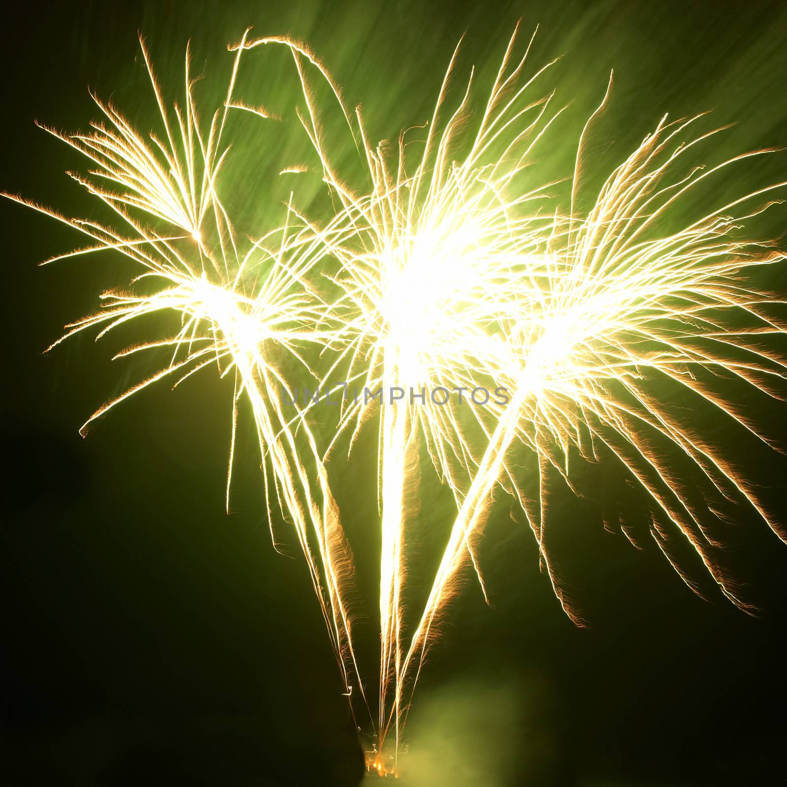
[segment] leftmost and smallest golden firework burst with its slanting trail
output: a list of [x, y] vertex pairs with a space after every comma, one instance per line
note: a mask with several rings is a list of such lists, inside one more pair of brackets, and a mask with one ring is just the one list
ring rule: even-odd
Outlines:
[[[300, 439], [290, 428], [292, 418], [284, 408], [291, 406], [294, 396], [279, 362], [272, 360], [276, 354], [271, 352], [274, 347], [283, 348], [287, 356], [314, 375], [302, 347], [325, 341], [319, 327], [324, 322], [325, 305], [309, 281], [309, 255], [302, 255], [307, 260], [305, 264], [290, 264], [283, 256], [285, 247], [308, 248], [313, 243], [311, 231], [305, 235], [302, 228], [285, 224], [251, 242], [245, 254], [239, 253], [238, 238], [217, 194], [216, 181], [228, 150], [221, 148], [227, 113], [239, 106], [233, 102], [232, 94], [240, 53], [235, 57], [224, 108], [213, 114], [205, 134], [198, 124], [188, 51], [185, 107], [182, 110], [174, 105], [172, 120], [142, 39], [140, 43], [164, 127], [164, 141], [151, 133], [150, 142], [146, 142], [113, 105], [95, 97], [105, 122], [91, 124], [91, 132], [65, 135], [47, 129], [96, 165], [90, 172], [94, 179], [69, 174], [131, 227], [132, 237], [108, 225], [68, 219], [22, 198], [6, 196], [64, 222], [95, 243], [47, 262], [109, 249], [142, 267], [142, 272], [131, 281], [131, 290], [103, 294], [103, 308], [66, 326], [66, 334], [54, 345], [92, 327], [100, 327], [101, 338], [124, 323], [155, 313], [176, 312], [181, 317], [180, 330], [174, 337], [133, 345], [117, 354], [116, 357], [127, 357], [164, 349], [172, 352], [172, 358], [148, 379], [99, 408], [82, 427], [83, 434], [94, 419], [159, 379], [172, 375], [177, 386], [212, 364], [216, 364], [222, 377], [234, 375], [227, 510], [238, 401], [245, 396], [253, 412], [262, 456], [272, 537], [275, 541], [271, 486], [283, 514], [292, 521], [304, 552], [345, 693], [353, 708], [352, 686], [358, 683], [357, 667], [345, 601], [351, 557], [311, 431], [302, 419], [298, 424]], [[240, 108], [248, 109], [246, 105]], [[109, 190], [102, 183], [119, 190]], [[140, 215], [143, 220], [166, 225], [168, 232], [159, 234], [144, 224]], [[288, 209], [288, 223], [292, 216], [294, 213]], [[273, 248], [269, 249], [271, 245]], [[143, 284], [146, 289], [138, 294], [135, 290]], [[283, 400], [287, 394], [289, 397]], [[301, 456], [308, 457], [316, 472], [307, 470]]]

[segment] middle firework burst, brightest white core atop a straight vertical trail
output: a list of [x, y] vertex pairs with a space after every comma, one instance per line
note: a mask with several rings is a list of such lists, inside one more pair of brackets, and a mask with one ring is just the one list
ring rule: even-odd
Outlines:
[[[341, 102], [341, 92], [325, 68], [289, 39], [257, 39], [246, 45], [248, 49], [267, 43], [290, 47], [307, 105], [301, 123], [320, 157], [323, 179], [343, 206], [327, 227], [315, 228], [325, 251], [341, 264], [334, 277], [341, 294], [331, 316], [345, 327], [327, 346], [337, 352], [331, 371], [345, 364], [347, 379], [363, 383], [364, 401], [343, 403], [329, 451], [345, 432], [350, 432], [352, 448], [370, 416], [370, 405], [379, 406], [381, 657], [378, 741], [373, 753], [381, 757], [390, 726], [395, 736], [393, 759], [399, 748], [406, 489], [417, 436], [423, 434], [432, 463], [449, 483], [457, 508], [477, 464], [456, 405], [434, 401], [423, 392], [460, 386], [467, 391], [471, 420], [484, 432], [490, 430], [486, 411], [501, 412], [500, 405], [497, 411], [495, 405], [479, 406], [469, 399], [470, 392], [510, 366], [504, 337], [517, 319], [523, 297], [519, 290], [530, 287], [521, 274], [527, 268], [523, 260], [541, 255], [556, 227], [549, 213], [540, 212], [545, 188], [552, 184], [507, 196], [512, 182], [531, 163], [535, 144], [560, 114], [560, 110], [549, 114], [552, 95], [536, 101], [527, 98], [528, 89], [548, 66], [523, 79], [530, 45], [512, 64], [515, 35], [474, 135], [466, 131], [472, 75], [456, 109], [450, 113], [446, 109], [457, 47], [412, 173], [405, 157], [406, 132], [400, 135], [392, 166], [382, 144], [376, 148], [369, 144], [360, 111], [356, 112], [360, 149], [371, 181], [371, 192], [361, 196], [342, 183], [332, 168], [301, 60], [316, 65]], [[349, 124], [350, 113], [343, 105], [342, 111]], [[462, 156], [459, 162], [453, 160], [457, 153]], [[379, 401], [368, 401], [367, 391], [378, 392]], [[394, 391], [401, 396], [395, 397]], [[419, 406], [413, 392], [420, 398]], [[471, 545], [464, 546], [475, 563]]]

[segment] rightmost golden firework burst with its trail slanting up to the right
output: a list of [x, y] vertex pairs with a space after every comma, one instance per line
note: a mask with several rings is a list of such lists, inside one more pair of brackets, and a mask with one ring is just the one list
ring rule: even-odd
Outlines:
[[[656, 220], [719, 168], [752, 155], [774, 153], [760, 150], [671, 178], [680, 157], [710, 135], [685, 141], [685, 129], [695, 120], [672, 124], [662, 120], [604, 183], [589, 215], [567, 218], [567, 231], [557, 234], [559, 241], [563, 239], [560, 264], [530, 272], [541, 292], [523, 314], [521, 335], [512, 336], [512, 342], [520, 344], [514, 354], [519, 355], [515, 368], [521, 371], [518, 379], [509, 382], [515, 395], [497, 422], [456, 517], [405, 656], [402, 673], [409, 678], [411, 696], [434, 620], [456, 591], [457, 572], [467, 545], [478, 536], [486, 518], [492, 490], [502, 475], [512, 478], [506, 456], [517, 439], [537, 456], [539, 492], [535, 500], [516, 486], [514, 492], [538, 542], [552, 587], [577, 623], [582, 621], [563, 593], [545, 548], [546, 475], [556, 471], [576, 492], [570, 453], [593, 461], [604, 450], [619, 460], [621, 471], [637, 482], [650, 501], [652, 537], [681, 578], [700, 595], [673, 556], [668, 526], [688, 541], [722, 593], [739, 608], [751, 611], [735, 595], [733, 583], [711, 555], [719, 544], [704, 526], [703, 515], [719, 515], [709, 499], [712, 493], [752, 506], [782, 541], [787, 539], [741, 473], [652, 391], [654, 378], [677, 383], [768, 445], [767, 435], [698, 375], [701, 370], [722, 371], [770, 397], [781, 399], [785, 393], [785, 360], [752, 341], [752, 336], [785, 333], [785, 326], [769, 316], [774, 303], [784, 303], [750, 289], [740, 279], [745, 269], [774, 264], [785, 255], [772, 242], [733, 237], [741, 223], [772, 203], [735, 218], [728, 212], [787, 183], [746, 194], [671, 235], [651, 231], [648, 236]], [[581, 164], [582, 143], [575, 190], [581, 183]], [[744, 330], [728, 327], [723, 316], [729, 317], [730, 312], [747, 316], [753, 324]], [[671, 473], [660, 450], [652, 447], [652, 438], [679, 449], [700, 471], [708, 486], [704, 511], [698, 510], [685, 485]]]

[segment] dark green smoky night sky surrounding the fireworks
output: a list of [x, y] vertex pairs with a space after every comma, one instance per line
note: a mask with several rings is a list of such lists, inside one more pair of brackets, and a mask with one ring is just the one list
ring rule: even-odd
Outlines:
[[[576, 116], [615, 67], [626, 142], [667, 108], [716, 108], [742, 121], [735, 152], [787, 145], [783, 3], [27, 2], [3, 17], [0, 188], [83, 211], [61, 174], [74, 157], [32, 121], [83, 127], [88, 85], [122, 94], [139, 79], [129, 76], [138, 29], [159, 70], [181, 68], [188, 38], [216, 54], [246, 24], [290, 31], [342, 84], [369, 87], [369, 103], [385, 105], [390, 85], [390, 116], [370, 109], [370, 122], [395, 130], [423, 120], [465, 29], [471, 55], [483, 61], [494, 46], [494, 64], [518, 17], [526, 30], [541, 22], [544, 52], [566, 53]], [[772, 167], [783, 179], [784, 161]], [[252, 469], [224, 513], [227, 386], [148, 390], [80, 438], [94, 408], [135, 378], [109, 362], [112, 342], [42, 349], [116, 273], [84, 260], [36, 268], [79, 240], [17, 205], [2, 216], [0, 784], [357, 783], [360, 748], [305, 567], [272, 549], [250, 442], [239, 450]], [[784, 408], [767, 416], [783, 435]], [[783, 467], [741, 459], [784, 521]], [[493, 608], [468, 586], [412, 713], [412, 758], [428, 749], [444, 767], [412, 783], [787, 781], [787, 548], [756, 523], [731, 531], [730, 564], [762, 609], [753, 618], [693, 596], [658, 552], [571, 508], [564, 518], [563, 562], [591, 627], [565, 618], [528, 535], [492, 527]]]

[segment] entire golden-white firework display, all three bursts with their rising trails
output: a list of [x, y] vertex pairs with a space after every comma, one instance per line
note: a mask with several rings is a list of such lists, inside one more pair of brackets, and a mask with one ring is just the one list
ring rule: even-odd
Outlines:
[[[714, 557], [719, 541], [709, 523], [725, 518], [728, 506], [753, 508], [787, 539], [752, 483], [674, 405], [675, 397], [693, 398], [771, 445], [725, 386], [737, 381], [770, 397], [784, 395], [787, 362], [767, 345], [769, 337], [787, 333], [774, 316], [783, 302], [749, 281], [785, 255], [771, 242], [743, 238], [742, 228], [772, 204], [766, 194], [787, 183], [706, 209], [696, 220], [687, 218], [687, 194], [726, 167], [774, 151], [691, 167], [691, 155], [717, 132], [692, 135], [699, 116], [665, 118], [593, 190], [584, 175], [587, 139], [608, 105], [608, 90], [580, 135], [573, 178], [540, 183], [534, 155], [561, 110], [553, 109], [551, 93], [531, 96], [551, 64], [526, 76], [530, 45], [515, 57], [515, 38], [516, 32], [486, 102], [477, 105], [471, 73], [449, 109], [457, 47], [430, 122], [402, 132], [393, 153], [385, 143], [370, 144], [360, 110], [346, 109], [327, 69], [294, 40], [249, 39], [246, 31], [231, 46], [227, 97], [207, 132], [198, 122], [188, 57], [186, 102], [182, 110], [175, 107], [173, 120], [143, 46], [163, 140], [151, 135], [147, 142], [102, 102], [105, 124], [94, 124], [90, 133], [53, 131], [98, 167], [93, 179], [75, 177], [131, 233], [14, 198], [97, 244], [53, 260], [114, 249], [142, 268], [130, 290], [104, 294], [105, 308], [69, 326], [64, 338], [94, 326], [101, 336], [154, 313], [180, 318], [174, 336], [120, 353], [164, 349], [172, 357], [91, 421], [169, 375], [179, 384], [216, 364], [220, 375], [234, 376], [227, 507], [238, 402], [245, 399], [263, 456], [272, 535], [275, 540], [270, 491], [304, 552], [353, 714], [369, 712], [375, 745], [368, 767], [381, 774], [396, 769], [425, 656], [468, 563], [486, 596], [477, 547], [497, 488], [523, 509], [541, 567], [577, 623], [582, 619], [564, 592], [545, 534], [550, 482], [557, 478], [581, 494], [580, 461], [614, 463], [633, 482], [645, 500], [652, 538], [696, 593], [700, 587], [682, 565], [681, 546], [693, 551], [726, 597], [748, 609]], [[266, 45], [286, 47], [293, 57], [305, 102], [298, 116], [336, 207], [318, 222], [290, 199], [283, 226], [255, 235], [241, 250], [219, 197], [227, 155], [221, 140], [230, 109], [271, 117], [234, 95], [242, 54]], [[360, 150], [360, 189], [349, 187], [334, 163], [315, 72]], [[302, 164], [282, 170], [306, 171]], [[566, 209], [552, 194], [563, 183], [570, 189]], [[286, 410], [297, 396], [282, 357], [320, 386], [330, 389], [343, 377], [345, 385], [377, 393], [343, 397], [336, 434], [322, 445], [309, 427], [312, 405], [295, 415]], [[318, 370], [310, 359], [323, 357]], [[439, 389], [464, 392], [464, 403], [430, 395]], [[486, 392], [482, 403], [473, 395], [478, 390]], [[492, 390], [509, 395], [490, 397]], [[375, 416], [381, 553], [373, 719], [347, 603], [352, 561], [326, 459], [344, 446], [351, 453]], [[413, 486], [422, 441], [453, 495], [456, 517], [423, 611], [413, 615], [407, 569], [416, 557]], [[523, 477], [520, 453], [530, 456], [535, 492]], [[696, 489], [679, 475], [674, 455], [699, 479]]]

